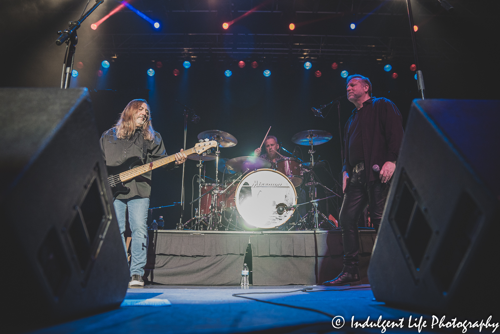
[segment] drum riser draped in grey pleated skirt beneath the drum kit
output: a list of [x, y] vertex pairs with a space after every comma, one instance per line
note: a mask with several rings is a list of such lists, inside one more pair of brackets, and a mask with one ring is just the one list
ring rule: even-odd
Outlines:
[[[366, 270], [373, 229], [359, 231], [359, 271]], [[342, 270], [342, 233], [317, 231], [149, 230], [144, 279], [168, 285], [237, 285], [246, 262], [253, 285], [321, 284]]]

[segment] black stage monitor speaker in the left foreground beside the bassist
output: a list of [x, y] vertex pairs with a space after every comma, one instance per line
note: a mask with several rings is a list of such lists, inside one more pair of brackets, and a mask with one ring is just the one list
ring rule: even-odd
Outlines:
[[119, 305], [129, 269], [87, 89], [2, 88], [0, 104], [4, 318]]

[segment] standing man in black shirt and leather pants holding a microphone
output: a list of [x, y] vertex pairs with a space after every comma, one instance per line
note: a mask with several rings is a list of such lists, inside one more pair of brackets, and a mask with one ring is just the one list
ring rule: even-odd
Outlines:
[[403, 138], [402, 117], [394, 103], [371, 97], [371, 83], [360, 75], [347, 77], [347, 99], [356, 109], [344, 128], [345, 157], [342, 169], [344, 199], [342, 227], [343, 268], [324, 285], [361, 284], [358, 269], [357, 221], [369, 205], [370, 221], [378, 231]]

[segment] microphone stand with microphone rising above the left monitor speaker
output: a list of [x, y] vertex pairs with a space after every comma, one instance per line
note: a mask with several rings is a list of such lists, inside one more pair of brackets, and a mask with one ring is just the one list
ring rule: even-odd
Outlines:
[[69, 87], [69, 82], [71, 81], [71, 72], [73, 71], [73, 61], [74, 52], [76, 51], [76, 43], [78, 43], [78, 36], [76, 36], [76, 30], [80, 28], [80, 25], [85, 19], [95, 11], [95, 9], [104, 2], [104, 0], [95, 0], [95, 5], [92, 6], [85, 14], [83, 14], [78, 21], [69, 22], [69, 27], [64, 31], [58, 31], [60, 34], [55, 44], [57, 46], [62, 45], [66, 42], [66, 52], [64, 54], [64, 63], [62, 64], [62, 74], [61, 74], [61, 89], [66, 89]]

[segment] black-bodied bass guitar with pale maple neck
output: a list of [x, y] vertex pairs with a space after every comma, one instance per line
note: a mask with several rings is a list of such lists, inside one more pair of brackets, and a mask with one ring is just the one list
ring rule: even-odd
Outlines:
[[[194, 153], [203, 154], [210, 148], [216, 146], [217, 142], [215, 140], [208, 142], [201, 142], [196, 144], [193, 148], [185, 150], [184, 153], [186, 155]], [[128, 158], [124, 163], [122, 163], [119, 166], [106, 166], [107, 173], [109, 175], [107, 181], [109, 186], [111, 187], [113, 198], [116, 198], [116, 195], [118, 194], [127, 194], [130, 191], [130, 188], [125, 187], [123, 182], [128, 181], [138, 175], [141, 175], [147, 171], [161, 167], [173, 161], [175, 161], [175, 154], [169, 155], [168, 157], [164, 157], [143, 165], [142, 158], [135, 156]]]

